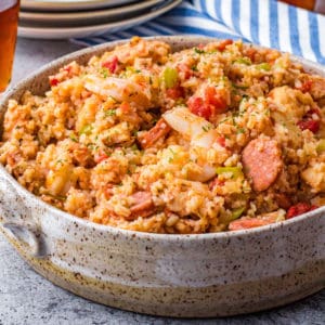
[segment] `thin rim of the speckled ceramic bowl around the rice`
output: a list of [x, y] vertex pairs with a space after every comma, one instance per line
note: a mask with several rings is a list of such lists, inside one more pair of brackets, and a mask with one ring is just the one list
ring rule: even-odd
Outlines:
[[[218, 38], [211, 38], [211, 37], [205, 37], [205, 36], [191, 36], [191, 35], [174, 35], [174, 36], [152, 36], [152, 37], [142, 37], [142, 39], [145, 40], [161, 40], [167, 41], [168, 43], [171, 42], [208, 42], [208, 41], [217, 41], [220, 40]], [[47, 73], [49, 69], [52, 68], [60, 68], [64, 64], [66, 64], [69, 61], [78, 60], [82, 55], [91, 55], [92, 53], [105, 51], [106, 49], [114, 48], [116, 46], [120, 46], [123, 43], [127, 43], [130, 41], [130, 39], [122, 39], [122, 40], [115, 40], [105, 42], [99, 46], [89, 47], [86, 49], [80, 49], [78, 51], [74, 51], [72, 53], [65, 54], [63, 56], [60, 56], [58, 58], [55, 58], [44, 65], [42, 65], [40, 68], [36, 69], [34, 73], [29, 74], [27, 77], [22, 79], [20, 82], [17, 82], [15, 86], [10, 88], [8, 91], [4, 92], [3, 96], [0, 100], [0, 112], [8, 105], [8, 101], [22, 88], [25, 87], [26, 83], [30, 83], [36, 77], [38, 77], [41, 74]], [[260, 47], [257, 44], [253, 44], [257, 48], [265, 49], [265, 47]], [[95, 55], [95, 54], [94, 54]], [[323, 72], [325, 75], [325, 67], [322, 66], [318, 63], [311, 62], [307, 58], [299, 57], [296, 55], [290, 54], [290, 58], [294, 61], [299, 62], [303, 66], [307, 66], [308, 69], [315, 70], [316, 73]], [[90, 220], [86, 220], [82, 218], [79, 218], [77, 216], [74, 216], [72, 213], [68, 213], [64, 210], [61, 210], [50, 204], [47, 204], [38, 196], [34, 195], [31, 192], [29, 192], [27, 188], [25, 188], [23, 185], [18, 183], [18, 181], [11, 174], [9, 171], [4, 168], [4, 166], [0, 162], [0, 174], [4, 173], [4, 177], [10, 181], [14, 186], [20, 188], [20, 193], [24, 193], [26, 195], [26, 198], [30, 202], [35, 202], [38, 205], [40, 205], [44, 210], [53, 213], [54, 216], [60, 214], [60, 218], [64, 218], [66, 221], [72, 223], [77, 223], [80, 226], [90, 227], [96, 231], [100, 231], [102, 233], [112, 233], [113, 235], [119, 235], [123, 236], [126, 238], [139, 238], [139, 239], [147, 239], [151, 242], [165, 242], [167, 238], [169, 242], [197, 242], [200, 240], [214, 240], [214, 239], [229, 239], [229, 238], [238, 238], [238, 237], [246, 237], [253, 234], [265, 234], [269, 232], [274, 232], [278, 229], [285, 229], [289, 227], [292, 224], [300, 223], [303, 220], [307, 220], [309, 218], [314, 218], [316, 216], [321, 216], [325, 212], [325, 206], [320, 207], [315, 210], [309, 211], [307, 213], [303, 213], [301, 216], [297, 216], [295, 218], [291, 218], [289, 220], [284, 221], [277, 221], [268, 225], [261, 225], [252, 229], [247, 230], [238, 230], [238, 231], [222, 231], [222, 232], [216, 232], [216, 233], [199, 233], [199, 234], [166, 234], [166, 233], [150, 233], [150, 232], [140, 232], [140, 231], [133, 231], [133, 230], [126, 230], [117, 226], [95, 223]], [[324, 213], [325, 214], [325, 213]], [[1, 225], [1, 223], [0, 223]]]

